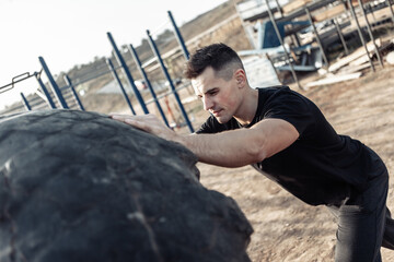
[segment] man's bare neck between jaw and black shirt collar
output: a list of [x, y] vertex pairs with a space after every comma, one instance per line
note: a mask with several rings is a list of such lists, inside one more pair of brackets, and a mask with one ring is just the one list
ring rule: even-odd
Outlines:
[[250, 124], [256, 115], [257, 106], [258, 106], [258, 91], [247, 87], [245, 90], [245, 96], [243, 103], [239, 108], [237, 112], [235, 114], [234, 118], [242, 126]]

